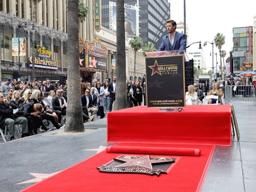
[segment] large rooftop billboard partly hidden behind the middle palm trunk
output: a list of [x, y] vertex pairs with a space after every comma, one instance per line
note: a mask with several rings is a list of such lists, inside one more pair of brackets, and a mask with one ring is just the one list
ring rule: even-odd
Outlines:
[[[116, 3], [109, 2], [109, 28], [116, 31]], [[124, 30], [127, 38], [139, 35], [139, 6], [124, 4]]]

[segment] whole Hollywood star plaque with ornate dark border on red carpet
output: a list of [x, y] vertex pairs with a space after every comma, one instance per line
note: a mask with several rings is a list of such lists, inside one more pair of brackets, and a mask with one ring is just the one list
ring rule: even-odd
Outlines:
[[[103, 173], [137, 173], [157, 175], [167, 174], [166, 170], [175, 162], [176, 158], [146, 156], [121, 156], [114, 158], [108, 165], [97, 167]], [[121, 162], [121, 163], [120, 163]]]

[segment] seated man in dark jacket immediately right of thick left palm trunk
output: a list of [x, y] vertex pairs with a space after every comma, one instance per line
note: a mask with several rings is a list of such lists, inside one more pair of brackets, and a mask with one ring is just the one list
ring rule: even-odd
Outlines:
[[[92, 89], [92, 87], [91, 87]], [[83, 107], [83, 112], [85, 115], [89, 116], [89, 112], [91, 112], [91, 116], [94, 117], [94, 115], [97, 113], [98, 109], [95, 108], [92, 104], [92, 96], [90, 95], [90, 89], [86, 88], [85, 94], [81, 96], [82, 100], [82, 107]]]

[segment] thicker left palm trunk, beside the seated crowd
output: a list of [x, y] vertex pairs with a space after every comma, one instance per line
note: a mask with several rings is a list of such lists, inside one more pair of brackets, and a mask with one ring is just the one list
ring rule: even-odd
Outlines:
[[84, 132], [79, 68], [78, 2], [68, 0], [68, 105], [66, 132]]

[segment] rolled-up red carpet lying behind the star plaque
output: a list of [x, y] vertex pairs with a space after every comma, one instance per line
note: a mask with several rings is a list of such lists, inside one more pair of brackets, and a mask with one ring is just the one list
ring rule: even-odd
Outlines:
[[199, 157], [200, 149], [179, 148], [179, 147], [143, 147], [143, 146], [109, 146], [107, 153], [138, 153], [138, 154], [158, 154], [158, 155], [186, 155]]

